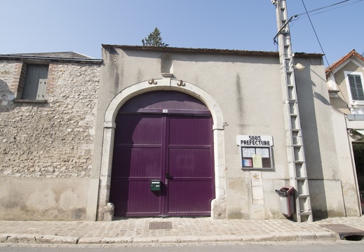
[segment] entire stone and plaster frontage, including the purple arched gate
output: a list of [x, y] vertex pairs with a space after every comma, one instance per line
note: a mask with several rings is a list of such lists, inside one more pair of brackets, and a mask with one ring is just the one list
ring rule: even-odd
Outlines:
[[[309, 210], [358, 216], [322, 55], [294, 57]], [[0, 55], [0, 219], [285, 218], [280, 68], [278, 52], [243, 50]]]

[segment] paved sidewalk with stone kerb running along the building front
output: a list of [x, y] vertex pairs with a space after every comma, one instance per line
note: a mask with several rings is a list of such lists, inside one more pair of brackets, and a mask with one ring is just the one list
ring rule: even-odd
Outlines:
[[[0, 221], [0, 243], [146, 244], [235, 241], [338, 241], [325, 225], [364, 230], [364, 217], [329, 218], [314, 223], [288, 220], [212, 218], [126, 218], [119, 221]], [[363, 231], [364, 232], [364, 231]]]

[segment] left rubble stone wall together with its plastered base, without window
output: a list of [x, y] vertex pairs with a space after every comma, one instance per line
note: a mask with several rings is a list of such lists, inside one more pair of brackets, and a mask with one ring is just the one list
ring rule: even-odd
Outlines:
[[0, 219], [94, 219], [100, 64], [50, 62], [43, 103], [15, 100], [21, 64], [0, 62]]

